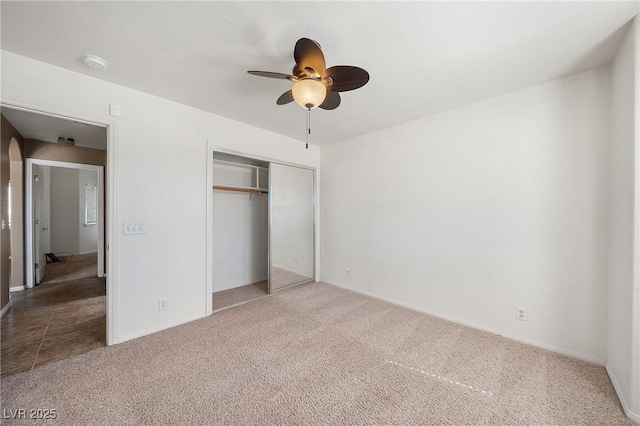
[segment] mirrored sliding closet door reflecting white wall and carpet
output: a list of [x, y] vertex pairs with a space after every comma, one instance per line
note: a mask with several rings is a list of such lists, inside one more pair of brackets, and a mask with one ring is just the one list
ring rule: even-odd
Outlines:
[[314, 204], [313, 170], [271, 163], [270, 290], [313, 280]]

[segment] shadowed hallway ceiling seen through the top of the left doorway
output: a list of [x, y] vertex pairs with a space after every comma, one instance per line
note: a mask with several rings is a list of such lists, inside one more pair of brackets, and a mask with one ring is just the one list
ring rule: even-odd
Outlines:
[[25, 139], [57, 143], [58, 137], [73, 138], [76, 146], [107, 149], [104, 127], [10, 108], [2, 108], [1, 112]]

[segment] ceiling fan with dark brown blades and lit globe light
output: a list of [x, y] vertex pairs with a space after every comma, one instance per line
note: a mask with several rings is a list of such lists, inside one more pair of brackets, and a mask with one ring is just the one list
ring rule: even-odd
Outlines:
[[369, 81], [369, 73], [359, 67], [338, 65], [327, 68], [320, 45], [308, 38], [301, 38], [296, 42], [293, 58], [296, 64], [291, 74], [247, 71], [251, 75], [286, 79], [294, 83], [291, 90], [278, 98], [278, 105], [296, 101], [307, 110], [318, 107], [336, 109], [340, 105], [338, 92], [358, 89]]

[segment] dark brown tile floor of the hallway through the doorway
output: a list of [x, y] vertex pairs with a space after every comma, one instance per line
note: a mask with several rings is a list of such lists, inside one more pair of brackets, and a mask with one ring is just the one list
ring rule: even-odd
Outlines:
[[31, 370], [106, 344], [104, 278], [41, 284], [12, 293], [0, 320], [0, 374]]

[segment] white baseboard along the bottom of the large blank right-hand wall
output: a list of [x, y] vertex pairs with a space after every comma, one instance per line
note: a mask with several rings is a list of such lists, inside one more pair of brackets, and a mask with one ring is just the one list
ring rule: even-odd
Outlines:
[[[324, 281], [324, 282], [326, 282], [326, 281]], [[400, 302], [398, 300], [391, 299], [389, 297], [380, 296], [380, 295], [377, 295], [375, 293], [370, 293], [368, 291], [357, 290], [357, 289], [354, 289], [354, 288], [351, 288], [351, 287], [347, 287], [347, 286], [340, 285], [340, 284], [333, 284], [333, 283], [330, 283], [330, 282], [326, 282], [326, 283], [330, 284], [330, 285], [333, 285], [333, 286], [336, 286], [336, 287], [339, 287], [339, 288], [343, 288], [345, 290], [354, 291], [356, 293], [364, 294], [365, 296], [373, 297], [374, 299], [382, 300], [384, 302], [389, 302], [389, 303], [392, 303], [392, 304], [397, 305], [397, 306], [402, 306], [403, 308], [411, 309], [412, 311], [422, 312], [423, 314], [431, 315], [431, 316], [434, 316], [436, 318], [441, 318], [441, 319], [444, 319], [444, 320], [447, 320], [447, 321], [451, 321], [451, 322], [456, 323], [456, 324], [460, 324], [460, 325], [464, 325], [464, 326], [467, 326], [467, 327], [475, 328], [475, 329], [478, 329], [478, 330], [486, 331], [488, 333], [492, 333], [492, 334], [496, 334], [498, 336], [506, 337], [507, 339], [515, 340], [516, 342], [525, 343], [527, 345], [535, 346], [535, 347], [541, 348], [541, 349], [546, 349], [548, 351], [555, 352], [555, 353], [558, 353], [558, 354], [561, 354], [561, 355], [566, 355], [566, 356], [569, 356], [571, 358], [579, 359], [581, 361], [587, 361], [587, 362], [590, 362], [592, 364], [597, 364], [597, 365], [600, 365], [600, 366], [604, 366], [604, 364], [605, 364], [605, 361], [603, 359], [598, 359], [598, 358], [594, 358], [594, 357], [589, 356], [589, 355], [584, 355], [584, 354], [581, 354], [581, 353], [578, 353], [578, 352], [573, 352], [573, 351], [570, 351], [568, 349], [564, 349], [564, 348], [560, 348], [558, 346], [550, 345], [548, 343], [540, 342], [538, 340], [528, 339], [526, 337], [522, 337], [522, 336], [519, 336], [517, 334], [505, 332], [505, 331], [498, 330], [498, 329], [491, 328], [491, 327], [486, 327], [484, 325], [477, 324], [477, 323], [474, 323], [472, 321], [466, 321], [466, 320], [463, 320], [463, 319], [460, 319], [460, 318], [456, 318], [456, 317], [452, 317], [452, 316], [449, 316], [449, 315], [445, 315], [445, 314], [442, 314], [440, 312], [436, 312], [436, 311], [432, 311], [432, 310], [429, 310], [429, 309], [425, 309], [425, 308], [422, 308], [420, 306], [412, 305], [410, 303]]]

